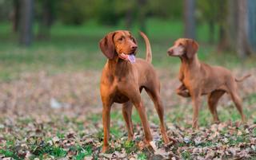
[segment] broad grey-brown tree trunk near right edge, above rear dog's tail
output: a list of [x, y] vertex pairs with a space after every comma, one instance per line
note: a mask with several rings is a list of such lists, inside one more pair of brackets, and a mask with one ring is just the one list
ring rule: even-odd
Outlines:
[[237, 51], [239, 57], [247, 57], [252, 53], [248, 38], [248, 15], [247, 15], [247, 0], [238, 0], [238, 38]]

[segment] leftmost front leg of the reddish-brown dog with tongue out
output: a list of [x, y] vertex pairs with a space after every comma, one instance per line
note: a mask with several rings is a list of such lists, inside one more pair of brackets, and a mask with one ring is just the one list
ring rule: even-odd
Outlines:
[[104, 139], [103, 139], [103, 146], [102, 152], [105, 153], [108, 150], [108, 139], [110, 137], [110, 109], [111, 103], [110, 102], [103, 102], [103, 109], [102, 109], [102, 123], [103, 123], [103, 131], [104, 131]]

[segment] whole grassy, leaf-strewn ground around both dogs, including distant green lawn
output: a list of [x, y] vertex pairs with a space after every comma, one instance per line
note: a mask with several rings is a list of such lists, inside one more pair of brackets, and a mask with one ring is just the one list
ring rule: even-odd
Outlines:
[[[174, 89], [179, 60], [166, 57], [174, 40], [182, 37], [180, 21], [150, 19], [147, 34], [153, 49], [153, 64], [162, 83], [168, 135], [177, 142], [164, 145], [159, 135], [158, 116], [146, 93], [142, 99], [157, 142], [158, 155], [143, 144], [143, 132], [136, 111], [133, 114], [135, 140], [126, 142], [126, 128], [119, 105], [111, 112], [111, 149], [102, 147], [101, 100], [98, 92], [101, 68], [106, 58], [98, 41], [106, 33], [122, 29], [96, 25], [56, 24], [50, 40], [35, 41], [30, 48], [16, 42], [10, 25], [0, 24], [0, 158], [56, 159], [95, 158], [255, 158], [256, 153], [256, 78], [239, 85], [248, 122], [240, 125], [240, 116], [229, 96], [219, 103], [220, 124], [211, 123], [206, 100], [200, 111], [200, 129], [191, 129], [192, 107], [189, 99], [178, 97]], [[36, 31], [37, 29], [35, 29]], [[138, 37], [138, 29], [132, 32]], [[207, 28], [200, 25], [198, 56], [209, 64], [230, 68], [236, 76], [256, 73], [255, 57], [241, 60], [234, 53], [217, 53], [215, 45], [206, 43]], [[139, 41], [139, 57], [145, 46]]]

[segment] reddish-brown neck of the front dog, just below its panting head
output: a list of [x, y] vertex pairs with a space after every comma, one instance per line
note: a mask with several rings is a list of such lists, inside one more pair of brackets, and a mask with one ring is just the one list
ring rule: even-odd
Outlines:
[[122, 60], [121, 58], [114, 57], [112, 60], [107, 61], [107, 68], [113, 76], [126, 76], [132, 68], [130, 62]]

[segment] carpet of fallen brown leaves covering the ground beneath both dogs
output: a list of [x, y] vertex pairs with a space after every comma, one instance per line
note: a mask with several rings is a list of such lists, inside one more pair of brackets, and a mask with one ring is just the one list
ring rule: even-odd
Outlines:
[[[249, 71], [256, 75], [256, 69]], [[242, 75], [241, 69], [234, 69]], [[134, 115], [134, 141], [127, 141], [126, 126], [118, 104], [111, 117], [110, 150], [102, 154], [101, 72], [21, 73], [18, 80], [0, 83], [0, 159], [248, 159], [256, 157], [256, 77], [239, 84], [247, 123], [241, 124], [229, 96], [218, 104], [222, 123], [210, 123], [202, 103], [206, 125], [191, 128], [190, 99], [176, 96], [176, 72], [158, 69], [162, 82], [167, 133], [162, 142], [158, 115], [142, 92], [149, 115], [155, 148], [143, 140], [138, 116]], [[135, 114], [136, 111], [134, 111]], [[203, 117], [203, 115], [201, 116]], [[138, 119], [138, 120], [136, 120]], [[224, 119], [224, 120], [223, 120]], [[203, 120], [202, 120], [203, 121]], [[204, 124], [204, 122], [201, 122]]]

